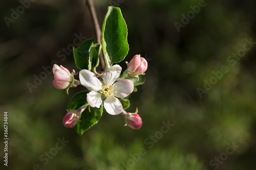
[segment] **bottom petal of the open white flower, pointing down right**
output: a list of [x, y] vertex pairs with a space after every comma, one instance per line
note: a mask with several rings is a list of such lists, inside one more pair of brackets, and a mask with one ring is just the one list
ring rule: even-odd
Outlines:
[[106, 112], [112, 115], [117, 115], [123, 111], [123, 106], [117, 98], [109, 98], [104, 101]]

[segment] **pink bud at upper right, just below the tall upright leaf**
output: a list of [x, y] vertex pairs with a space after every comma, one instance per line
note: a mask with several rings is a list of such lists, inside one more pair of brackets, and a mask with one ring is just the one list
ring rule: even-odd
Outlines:
[[143, 74], [147, 69], [147, 62], [140, 55], [135, 55], [128, 64], [127, 71], [131, 76], [139, 76]]

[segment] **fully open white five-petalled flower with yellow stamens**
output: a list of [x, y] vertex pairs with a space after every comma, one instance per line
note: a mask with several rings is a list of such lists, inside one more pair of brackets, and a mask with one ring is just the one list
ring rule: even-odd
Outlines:
[[110, 67], [102, 75], [103, 82], [100, 82], [95, 74], [87, 69], [79, 72], [81, 84], [91, 90], [87, 93], [87, 102], [91, 107], [99, 108], [103, 100], [104, 108], [109, 114], [116, 115], [122, 112], [122, 104], [117, 98], [128, 96], [133, 92], [134, 85], [128, 79], [114, 83], [120, 77], [121, 70], [122, 68], [117, 64]]

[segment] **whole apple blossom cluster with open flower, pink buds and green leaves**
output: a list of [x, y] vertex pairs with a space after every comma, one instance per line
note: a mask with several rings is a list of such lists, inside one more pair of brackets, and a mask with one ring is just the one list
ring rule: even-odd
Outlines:
[[[93, 10], [91, 3], [88, 1], [87, 4], [90, 11]], [[128, 98], [132, 92], [137, 91], [135, 86], [144, 84], [145, 78], [140, 75], [145, 75], [147, 61], [140, 55], [135, 55], [130, 63], [125, 62], [127, 69], [121, 76], [121, 66], [113, 65], [121, 62], [129, 52], [127, 25], [122, 16], [120, 8], [109, 7], [102, 26], [102, 41], [98, 39], [97, 34], [96, 43], [95, 39], [91, 38], [81, 41], [76, 48], [73, 47], [75, 65], [80, 69], [79, 80], [75, 79], [75, 70], [70, 72], [62, 65], [53, 66], [52, 83], [56, 89], [66, 89], [69, 94], [70, 87], [83, 85], [87, 88], [74, 94], [67, 107], [69, 110], [62, 120], [63, 126], [75, 127], [75, 131], [80, 135], [98, 123], [103, 108], [111, 115], [121, 113], [129, 131], [131, 128], [140, 129], [142, 126], [137, 108], [135, 113], [127, 113], [123, 109], [130, 107]]]

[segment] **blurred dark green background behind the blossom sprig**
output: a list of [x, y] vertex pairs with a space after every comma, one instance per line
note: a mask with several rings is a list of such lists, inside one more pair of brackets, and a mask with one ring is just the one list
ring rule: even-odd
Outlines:
[[[138, 107], [143, 126], [129, 132], [121, 115], [103, 112], [98, 124], [79, 136], [63, 127], [62, 118], [72, 96], [85, 88], [71, 88], [67, 95], [52, 86], [52, 73], [42, 72], [53, 61], [79, 71], [72, 52], [62, 49], [71, 47], [76, 35], [95, 38], [87, 6], [80, 0], [36, 0], [8, 27], [4, 17], [11, 18], [21, 4], [2, 1], [0, 136], [2, 141], [8, 111], [9, 161], [3, 165], [1, 142], [1, 169], [255, 169], [255, 44], [241, 59], [232, 58], [236, 64], [227, 59], [244, 49], [245, 39], [256, 41], [256, 2], [205, 1], [178, 31], [174, 22], [181, 23], [182, 14], [199, 2], [95, 1], [100, 26], [108, 6], [121, 8], [130, 45], [125, 61], [136, 54], [147, 59], [146, 83], [127, 110]], [[120, 64], [125, 69], [124, 61]], [[201, 98], [197, 89], [224, 65], [228, 71]], [[29, 90], [39, 76], [44, 80]], [[174, 126], [161, 133], [163, 122]], [[58, 138], [69, 141], [60, 150], [54, 149]], [[47, 152], [54, 155], [47, 158]]]

